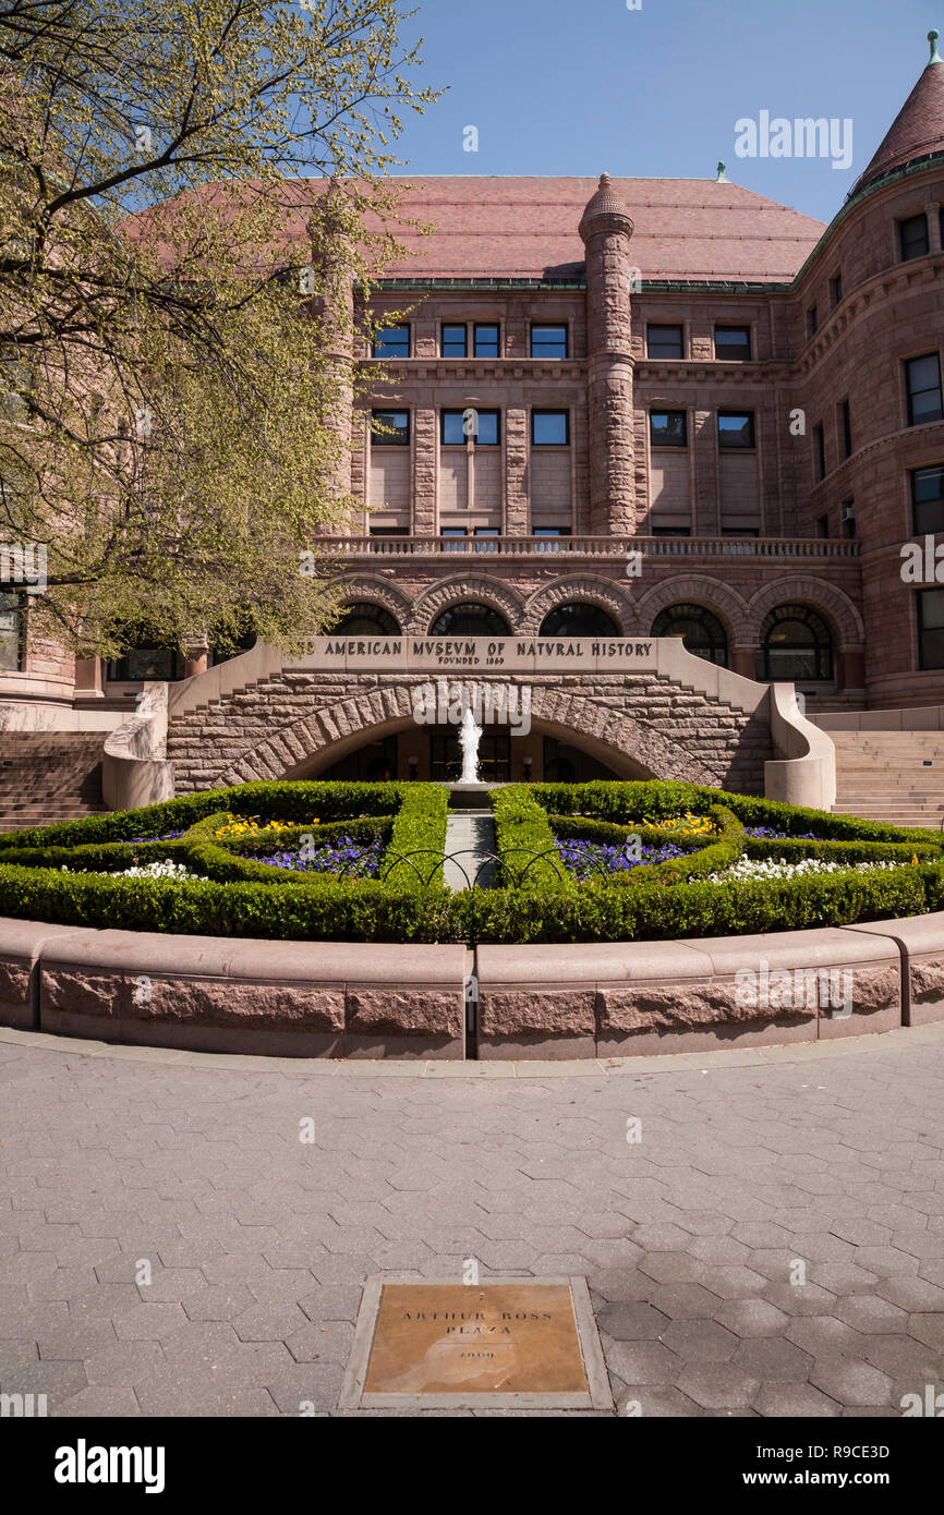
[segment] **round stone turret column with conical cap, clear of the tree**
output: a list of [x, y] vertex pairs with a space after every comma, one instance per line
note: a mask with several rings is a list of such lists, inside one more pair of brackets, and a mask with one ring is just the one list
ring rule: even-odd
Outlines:
[[633, 359], [629, 211], [609, 182], [586, 206], [586, 398], [589, 417], [589, 529], [602, 536], [636, 530], [633, 480]]

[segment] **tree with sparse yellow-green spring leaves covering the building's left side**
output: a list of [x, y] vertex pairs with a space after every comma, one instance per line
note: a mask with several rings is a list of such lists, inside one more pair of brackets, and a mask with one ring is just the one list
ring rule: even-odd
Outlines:
[[30, 614], [82, 654], [326, 624], [389, 148], [436, 98], [406, 18], [0, 0], [0, 542], [45, 547]]

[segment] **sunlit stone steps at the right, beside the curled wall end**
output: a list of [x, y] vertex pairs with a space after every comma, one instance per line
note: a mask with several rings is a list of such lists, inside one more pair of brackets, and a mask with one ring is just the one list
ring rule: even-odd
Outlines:
[[836, 744], [836, 815], [889, 826], [944, 821], [944, 732], [829, 732]]

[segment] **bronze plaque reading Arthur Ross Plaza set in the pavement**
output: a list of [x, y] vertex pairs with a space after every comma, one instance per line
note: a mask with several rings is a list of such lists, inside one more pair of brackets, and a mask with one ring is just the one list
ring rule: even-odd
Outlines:
[[367, 1394], [586, 1394], [567, 1283], [386, 1283]]

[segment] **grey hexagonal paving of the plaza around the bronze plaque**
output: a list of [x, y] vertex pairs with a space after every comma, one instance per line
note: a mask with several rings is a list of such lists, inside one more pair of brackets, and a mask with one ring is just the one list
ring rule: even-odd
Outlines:
[[0, 1080], [32, 1068], [5, 1085], [0, 1383], [50, 1413], [333, 1417], [364, 1279], [474, 1256], [588, 1277], [617, 1413], [900, 1415], [944, 1383], [944, 1041], [852, 1042], [491, 1079], [0, 1039]]

